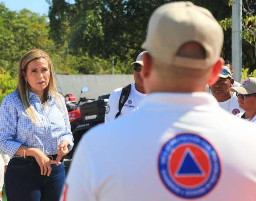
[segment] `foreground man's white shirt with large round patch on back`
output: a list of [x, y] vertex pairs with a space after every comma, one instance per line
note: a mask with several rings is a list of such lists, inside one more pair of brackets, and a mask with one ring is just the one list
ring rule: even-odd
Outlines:
[[205, 92], [150, 94], [83, 136], [66, 201], [255, 201], [255, 133]]

